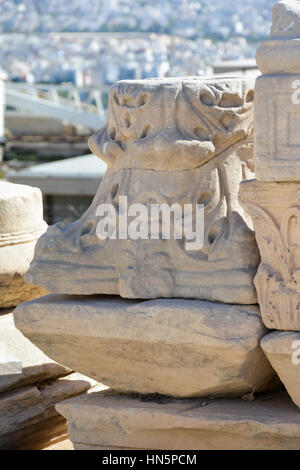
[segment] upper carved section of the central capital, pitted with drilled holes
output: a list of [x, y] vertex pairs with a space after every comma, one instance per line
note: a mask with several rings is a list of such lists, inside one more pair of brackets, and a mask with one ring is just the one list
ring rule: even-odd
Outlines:
[[253, 84], [215, 77], [117, 82], [107, 125], [90, 137], [90, 148], [119, 170], [198, 168], [248, 138]]

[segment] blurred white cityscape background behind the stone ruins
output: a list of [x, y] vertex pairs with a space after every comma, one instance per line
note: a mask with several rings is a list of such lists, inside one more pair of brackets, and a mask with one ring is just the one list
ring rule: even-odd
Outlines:
[[[87, 137], [122, 79], [257, 74], [275, 0], [1, 0], [0, 176], [74, 220], [105, 171]], [[5, 104], [4, 104], [5, 102]]]

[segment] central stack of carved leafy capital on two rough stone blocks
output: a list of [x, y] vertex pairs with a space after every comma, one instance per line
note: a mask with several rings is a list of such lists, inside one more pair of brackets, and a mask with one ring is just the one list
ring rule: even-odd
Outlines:
[[[241, 400], [278, 387], [260, 347], [259, 252], [238, 201], [254, 177], [252, 140], [252, 80], [111, 88], [107, 125], [90, 140], [107, 173], [87, 212], [37, 243], [26, 279], [51, 295], [14, 313], [52, 359], [111, 388], [58, 405], [75, 448], [299, 448], [300, 417], [285, 396]], [[98, 208], [111, 204], [120, 221], [124, 196], [147, 207], [203, 204], [203, 246], [189, 251], [188, 240], [161, 233], [100, 239]]]

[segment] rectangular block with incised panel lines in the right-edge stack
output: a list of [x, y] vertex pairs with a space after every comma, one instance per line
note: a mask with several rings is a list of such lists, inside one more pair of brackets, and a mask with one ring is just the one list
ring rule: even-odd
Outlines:
[[[299, 33], [300, 34], [300, 33]], [[299, 40], [300, 51], [300, 40]], [[300, 65], [299, 65], [300, 72]], [[260, 181], [300, 181], [300, 74], [263, 75], [255, 84], [255, 174]], [[294, 86], [294, 88], [293, 88]]]

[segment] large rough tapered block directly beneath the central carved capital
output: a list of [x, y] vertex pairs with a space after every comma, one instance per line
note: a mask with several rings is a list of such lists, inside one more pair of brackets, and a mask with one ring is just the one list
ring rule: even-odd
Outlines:
[[49, 357], [122, 392], [240, 396], [274, 385], [257, 306], [50, 295], [14, 316]]

